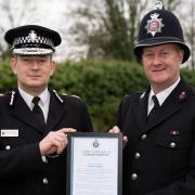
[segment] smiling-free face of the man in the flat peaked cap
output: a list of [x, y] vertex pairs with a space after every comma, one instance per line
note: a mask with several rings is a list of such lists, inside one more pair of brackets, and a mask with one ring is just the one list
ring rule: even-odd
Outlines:
[[12, 57], [11, 66], [18, 86], [28, 92], [46, 89], [55, 70], [51, 55], [17, 55]]

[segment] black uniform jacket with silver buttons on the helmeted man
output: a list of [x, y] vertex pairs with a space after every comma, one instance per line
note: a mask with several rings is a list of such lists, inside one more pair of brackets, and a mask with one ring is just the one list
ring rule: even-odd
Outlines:
[[150, 123], [148, 92], [126, 96], [118, 113], [123, 195], [194, 195], [195, 91], [181, 79]]

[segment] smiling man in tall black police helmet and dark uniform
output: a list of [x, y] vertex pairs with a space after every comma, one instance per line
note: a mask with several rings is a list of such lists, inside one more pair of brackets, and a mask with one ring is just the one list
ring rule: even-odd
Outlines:
[[177, 16], [156, 8], [142, 20], [134, 53], [150, 86], [123, 98], [123, 195], [195, 194], [195, 89], [181, 76], [190, 49]]

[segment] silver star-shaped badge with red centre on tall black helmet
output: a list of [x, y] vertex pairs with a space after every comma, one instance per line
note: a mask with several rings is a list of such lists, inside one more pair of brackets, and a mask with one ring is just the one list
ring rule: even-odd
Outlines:
[[165, 26], [161, 23], [162, 18], [158, 18], [158, 13], [151, 14], [151, 20], [147, 21], [147, 25], [145, 26], [147, 34], [151, 34], [153, 37], [156, 32], [161, 32], [161, 28]]

